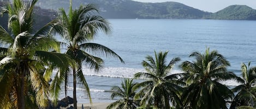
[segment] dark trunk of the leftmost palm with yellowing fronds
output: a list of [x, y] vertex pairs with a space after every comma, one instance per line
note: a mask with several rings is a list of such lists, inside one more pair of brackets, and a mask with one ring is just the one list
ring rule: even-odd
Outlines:
[[17, 78], [17, 105], [18, 109], [25, 109], [25, 97], [24, 97], [24, 74], [21, 73]]

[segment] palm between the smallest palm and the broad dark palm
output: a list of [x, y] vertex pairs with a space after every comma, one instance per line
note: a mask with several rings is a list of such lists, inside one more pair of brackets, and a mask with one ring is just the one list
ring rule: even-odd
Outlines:
[[150, 106], [154, 103], [154, 107], [157, 108], [170, 108], [170, 100], [172, 105], [179, 107], [181, 106], [180, 94], [182, 87], [178, 86], [183, 82], [178, 81], [178, 76], [181, 74], [170, 74], [170, 70], [174, 64], [180, 60], [176, 57], [166, 64], [165, 53], [156, 53], [155, 59], [152, 56], [147, 56], [146, 61], [142, 62], [147, 73], [136, 73], [135, 78], [146, 78], [147, 80], [137, 84], [135, 87], [140, 87], [141, 90], [136, 93], [135, 99], [142, 97], [140, 104], [147, 104]]

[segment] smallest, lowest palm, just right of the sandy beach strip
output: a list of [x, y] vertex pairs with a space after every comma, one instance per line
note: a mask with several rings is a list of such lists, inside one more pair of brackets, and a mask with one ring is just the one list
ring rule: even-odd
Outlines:
[[137, 83], [133, 82], [133, 79], [124, 79], [122, 81], [121, 87], [114, 86], [111, 88], [112, 94], [111, 99], [120, 98], [119, 100], [112, 102], [108, 107], [111, 108], [125, 108], [125, 109], [135, 109], [138, 106], [138, 102], [133, 100], [135, 95], [135, 88], [134, 86]]

